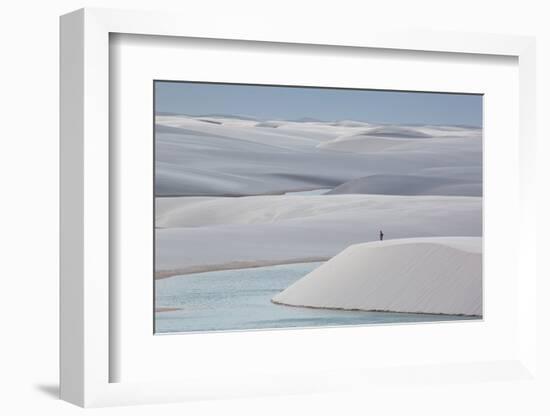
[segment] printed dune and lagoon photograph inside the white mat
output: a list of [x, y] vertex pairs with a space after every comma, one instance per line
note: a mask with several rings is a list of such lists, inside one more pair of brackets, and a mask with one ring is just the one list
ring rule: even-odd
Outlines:
[[155, 333], [482, 318], [482, 95], [154, 96]]

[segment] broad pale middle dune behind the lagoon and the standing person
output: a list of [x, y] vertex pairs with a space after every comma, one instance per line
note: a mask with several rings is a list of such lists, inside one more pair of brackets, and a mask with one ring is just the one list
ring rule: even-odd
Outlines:
[[157, 275], [329, 259], [351, 244], [480, 236], [481, 198], [275, 195], [156, 199]]

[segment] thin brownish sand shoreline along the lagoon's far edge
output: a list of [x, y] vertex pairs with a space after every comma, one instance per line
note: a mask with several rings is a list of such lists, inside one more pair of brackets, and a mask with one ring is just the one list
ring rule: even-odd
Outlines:
[[232, 261], [222, 264], [209, 264], [209, 265], [197, 265], [189, 266], [181, 269], [174, 270], [159, 270], [155, 271], [155, 280], [167, 279], [174, 276], [198, 274], [206, 272], [218, 272], [224, 270], [238, 270], [238, 269], [254, 269], [258, 267], [267, 266], [281, 266], [284, 264], [298, 264], [298, 263], [316, 263], [330, 260], [331, 257], [303, 257], [286, 260], [251, 260], [251, 261]]

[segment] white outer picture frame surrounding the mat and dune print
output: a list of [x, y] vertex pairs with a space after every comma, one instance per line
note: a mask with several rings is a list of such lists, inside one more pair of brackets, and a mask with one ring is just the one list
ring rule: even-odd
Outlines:
[[[498, 360], [445, 362], [434, 367], [419, 360], [416, 379], [430, 378], [435, 371], [449, 380], [478, 382], [472, 374], [522, 380], [536, 372], [536, 270], [534, 207], [535, 43], [533, 38], [464, 34], [397, 32], [366, 29], [362, 33], [328, 33], [322, 30], [285, 28], [277, 24], [240, 25], [217, 22], [212, 27], [200, 20], [168, 13], [107, 9], [82, 9], [61, 18], [61, 397], [80, 406], [183, 401], [196, 398], [243, 397], [260, 394], [323, 392], [346, 388], [349, 383], [376, 385], [380, 380], [407, 378], [407, 369], [382, 367], [368, 372], [349, 368], [319, 368], [336, 377], [320, 380], [318, 373], [278, 374], [239, 379], [225, 372], [213, 381], [197, 369], [189, 377], [151, 377], [148, 381], [113, 382], [112, 367], [122, 357], [113, 348], [112, 318], [117, 310], [116, 291], [109, 276], [116, 259], [109, 252], [111, 218], [110, 172], [110, 34], [225, 39], [301, 45], [330, 45], [334, 48], [376, 48], [428, 51], [443, 54], [501, 55], [518, 59], [519, 68], [519, 154], [517, 198], [518, 279], [517, 349]], [[261, 46], [261, 43], [258, 45]], [[473, 58], [473, 59], [474, 59]], [[110, 191], [111, 190], [111, 191]], [[516, 313], [517, 312], [517, 313]], [[116, 330], [116, 326], [114, 328]], [[348, 335], [352, 335], [348, 330]], [[483, 329], [480, 329], [482, 331]], [[327, 341], [338, 336], [334, 330], [317, 332]], [[410, 331], [409, 331], [410, 332]], [[264, 337], [293, 337], [299, 332], [264, 332]], [[235, 334], [212, 334], [212, 342], [229, 342]], [[152, 334], [151, 334], [152, 336]], [[215, 338], [214, 338], [215, 337]], [[225, 338], [222, 338], [225, 337]], [[162, 346], [161, 346], [162, 348]], [[123, 351], [123, 350], [122, 350]], [[136, 372], [140, 369], [136, 368]], [[116, 378], [116, 377], [115, 377]], [[154, 380], [154, 381], [153, 381]]]

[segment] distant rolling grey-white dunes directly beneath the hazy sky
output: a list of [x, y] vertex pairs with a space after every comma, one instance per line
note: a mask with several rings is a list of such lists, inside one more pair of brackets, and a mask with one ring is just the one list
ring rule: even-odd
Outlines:
[[[243, 196], [333, 188], [375, 174], [481, 166], [475, 128], [356, 121], [156, 118], [157, 196]], [[481, 175], [473, 180], [481, 182]]]

